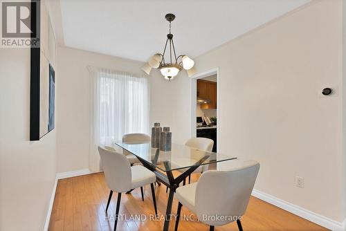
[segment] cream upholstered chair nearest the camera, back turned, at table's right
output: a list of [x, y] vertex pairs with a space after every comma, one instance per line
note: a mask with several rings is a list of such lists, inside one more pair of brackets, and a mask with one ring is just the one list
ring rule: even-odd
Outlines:
[[210, 230], [233, 221], [237, 221], [239, 231], [243, 230], [240, 218], [246, 212], [260, 164], [253, 160], [230, 161], [235, 162], [231, 169], [203, 172], [197, 183], [176, 189], [179, 204], [175, 230], [183, 205], [197, 214], [199, 221], [210, 225]]

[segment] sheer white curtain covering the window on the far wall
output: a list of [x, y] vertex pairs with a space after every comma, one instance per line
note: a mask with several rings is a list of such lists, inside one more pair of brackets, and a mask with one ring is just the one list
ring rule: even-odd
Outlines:
[[149, 132], [149, 93], [146, 77], [89, 68], [93, 80], [91, 163], [98, 171], [98, 145], [111, 145], [126, 133]]

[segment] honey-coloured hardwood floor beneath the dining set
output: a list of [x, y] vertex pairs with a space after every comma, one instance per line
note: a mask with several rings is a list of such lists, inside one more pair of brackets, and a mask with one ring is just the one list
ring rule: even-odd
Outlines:
[[[192, 175], [197, 181], [199, 174]], [[156, 203], [159, 218], [165, 214], [168, 194], [165, 185], [155, 187]], [[118, 221], [117, 230], [163, 230], [162, 221], [150, 221], [149, 214], [154, 214], [150, 185], [145, 186], [145, 201], [142, 201], [140, 189], [131, 194], [122, 194], [120, 214], [123, 220]], [[116, 208], [117, 194], [114, 193], [109, 205], [108, 216], [104, 212], [107, 205], [109, 188], [104, 181], [103, 173], [89, 174], [58, 181], [51, 221], [48, 230], [113, 230], [113, 212]], [[217, 196], [217, 195], [215, 195]], [[212, 195], [210, 196], [212, 199]], [[176, 214], [177, 201], [174, 200], [172, 213]], [[131, 217], [131, 214], [147, 215], [145, 221]], [[183, 207], [181, 216], [190, 217], [191, 213]], [[125, 216], [126, 215], [126, 216]], [[162, 216], [161, 216], [162, 215]], [[109, 217], [109, 220], [107, 220]], [[192, 216], [196, 218], [196, 216]], [[174, 230], [175, 219], [170, 222], [170, 230]], [[251, 197], [248, 210], [242, 219], [246, 230], [327, 230], [305, 219], [286, 212], [278, 207]], [[179, 222], [179, 230], [209, 230], [208, 225], [199, 221]], [[238, 230], [236, 223], [215, 227], [215, 230]]]

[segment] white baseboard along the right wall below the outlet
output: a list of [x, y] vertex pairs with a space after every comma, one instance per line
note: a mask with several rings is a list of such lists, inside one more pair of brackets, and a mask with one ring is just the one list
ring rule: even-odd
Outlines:
[[323, 226], [329, 230], [334, 230], [334, 231], [345, 231], [346, 230], [346, 219], [343, 222], [331, 220], [325, 216], [322, 216], [320, 214], [316, 214], [316, 212], [311, 212], [309, 210], [304, 209], [303, 207], [293, 205], [292, 203], [284, 201], [280, 198], [276, 198], [275, 196], [271, 196], [270, 194], [266, 194], [264, 192], [261, 192], [260, 190], [253, 190], [252, 195], [257, 197], [257, 198], [260, 198], [262, 201], [266, 201], [268, 203], [271, 203], [272, 205], [280, 207], [283, 210], [286, 210], [286, 211], [291, 212], [297, 216], [300, 216], [304, 219], [307, 219], [313, 223], [321, 225], [321, 226]]

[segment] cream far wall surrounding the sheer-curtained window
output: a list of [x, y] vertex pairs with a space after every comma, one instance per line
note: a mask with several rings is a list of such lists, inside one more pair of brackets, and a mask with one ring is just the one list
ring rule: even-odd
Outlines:
[[[73, 48], [59, 48], [57, 63], [57, 172], [70, 172], [89, 168], [89, 138], [91, 134], [91, 81], [87, 66], [109, 68], [145, 75], [142, 62], [109, 55], [91, 53]], [[152, 71], [150, 87], [150, 124], [161, 122], [171, 126], [177, 86]], [[174, 128], [172, 127], [174, 131]]]

